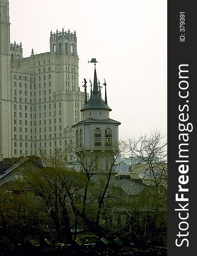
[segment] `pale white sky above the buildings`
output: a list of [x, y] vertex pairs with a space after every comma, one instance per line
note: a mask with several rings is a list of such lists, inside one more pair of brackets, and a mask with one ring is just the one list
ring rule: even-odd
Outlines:
[[167, 0], [9, 0], [9, 9], [23, 57], [49, 52], [51, 30], [76, 31], [79, 85], [93, 81], [96, 58], [120, 137], [167, 134]]

